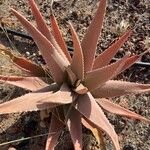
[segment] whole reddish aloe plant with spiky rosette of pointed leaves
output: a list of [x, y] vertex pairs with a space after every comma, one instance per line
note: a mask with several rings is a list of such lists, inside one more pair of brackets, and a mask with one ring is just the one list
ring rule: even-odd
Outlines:
[[129, 111], [106, 98], [150, 92], [150, 84], [138, 84], [113, 80], [116, 75], [138, 61], [141, 55], [125, 55], [110, 63], [132, 33], [126, 31], [109, 48], [95, 58], [98, 37], [105, 15], [106, 0], [101, 0], [98, 10], [80, 43], [77, 33], [69, 23], [73, 41], [71, 57], [60, 33], [57, 21], [50, 15], [52, 32], [47, 27], [34, 0], [28, 0], [37, 27], [24, 16], [12, 9], [37, 44], [46, 66], [39, 66], [29, 60], [12, 54], [1, 45], [0, 51], [8, 55], [13, 63], [28, 76], [0, 76], [0, 81], [12, 84], [31, 92], [11, 101], [0, 104], [0, 114], [51, 109], [52, 117], [46, 150], [52, 150], [58, 142], [62, 129], [67, 126], [74, 149], [82, 149], [82, 124], [96, 136], [105, 132], [116, 150], [120, 149], [118, 136], [106, 118], [103, 109], [150, 123], [150, 120]]

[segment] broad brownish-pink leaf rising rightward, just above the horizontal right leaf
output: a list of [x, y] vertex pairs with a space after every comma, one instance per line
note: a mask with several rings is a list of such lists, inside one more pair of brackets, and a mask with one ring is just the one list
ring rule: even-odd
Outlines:
[[128, 55], [106, 67], [88, 72], [85, 76], [85, 86], [90, 91], [100, 87], [102, 84], [104, 84], [120, 72], [127, 59]]

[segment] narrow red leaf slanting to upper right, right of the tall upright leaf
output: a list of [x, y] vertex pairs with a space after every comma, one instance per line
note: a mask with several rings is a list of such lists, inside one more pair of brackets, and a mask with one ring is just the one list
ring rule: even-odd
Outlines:
[[111, 59], [115, 56], [118, 50], [123, 46], [125, 41], [131, 35], [132, 30], [126, 31], [115, 43], [113, 43], [108, 49], [101, 53], [94, 61], [93, 69], [102, 68], [109, 64]]

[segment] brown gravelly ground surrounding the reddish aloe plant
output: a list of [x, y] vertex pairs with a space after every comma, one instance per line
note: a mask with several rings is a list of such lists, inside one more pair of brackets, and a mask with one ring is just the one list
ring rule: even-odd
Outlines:
[[[43, 13], [47, 24], [49, 21], [49, 10], [51, 0], [36, 0]], [[70, 33], [68, 32], [68, 21], [71, 21], [76, 31], [82, 39], [86, 28], [88, 27], [94, 12], [97, 9], [99, 0], [64, 0], [54, 2], [53, 10], [68, 46], [72, 46]], [[29, 20], [34, 22], [34, 18], [29, 11], [26, 0], [0, 0], [0, 21], [1, 26], [12, 30], [26, 32], [11, 14], [10, 6], [21, 11]], [[116, 55], [121, 58], [125, 53], [131, 54], [144, 52], [149, 48], [149, 1], [148, 0], [108, 0], [106, 17], [103, 25], [102, 36], [98, 43], [97, 53], [106, 49], [119, 35], [128, 27], [134, 27], [134, 33], [128, 42], [119, 50]], [[33, 41], [19, 38], [13, 35], [0, 32], [0, 43], [11, 47], [14, 52], [21, 54], [37, 63], [40, 63], [37, 48]], [[15, 68], [8, 58], [0, 54], [1, 74], [23, 74]], [[150, 62], [150, 54], [143, 56], [142, 61]], [[117, 77], [126, 81], [139, 83], [150, 83], [150, 68], [133, 66]], [[18, 89], [5, 84], [0, 85], [0, 102], [10, 100], [27, 91]], [[147, 118], [150, 118], [150, 95], [131, 95], [114, 99], [120, 105], [129, 108]], [[150, 125], [140, 121], [132, 121], [119, 116], [108, 114], [110, 122], [114, 125], [119, 135], [121, 149], [123, 150], [150, 150]], [[49, 120], [47, 120], [49, 122]], [[46, 126], [47, 127], [47, 126]], [[39, 122], [39, 113], [22, 113], [0, 116], [0, 143], [11, 140], [32, 137], [30, 140], [23, 140], [5, 146], [0, 146], [0, 150], [7, 150], [14, 146], [17, 150], [44, 149], [46, 136], [33, 138], [35, 135], [47, 133], [47, 128], [41, 127]], [[67, 136], [66, 136], [67, 135]], [[62, 140], [61, 140], [62, 139]], [[91, 145], [87, 146], [87, 141]], [[85, 131], [84, 149], [99, 149], [94, 138], [88, 131]], [[65, 141], [65, 142], [64, 142]], [[64, 131], [60, 138], [57, 149], [72, 149], [69, 143], [68, 132]], [[106, 137], [107, 149], [111, 150], [111, 144]], [[61, 146], [60, 146], [61, 145]], [[88, 147], [88, 148], [87, 148]], [[91, 148], [90, 148], [91, 147]]]

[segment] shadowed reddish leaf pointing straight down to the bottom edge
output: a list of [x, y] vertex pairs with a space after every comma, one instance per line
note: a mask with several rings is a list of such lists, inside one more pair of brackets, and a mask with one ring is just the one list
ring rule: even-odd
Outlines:
[[81, 114], [74, 108], [70, 111], [67, 120], [67, 126], [75, 150], [82, 150], [82, 124]]

